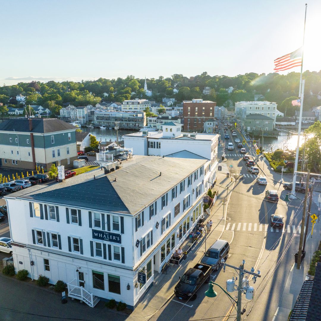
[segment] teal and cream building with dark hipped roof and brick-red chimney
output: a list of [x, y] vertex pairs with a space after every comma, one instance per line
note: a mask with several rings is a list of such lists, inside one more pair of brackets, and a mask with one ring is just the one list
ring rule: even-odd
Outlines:
[[56, 118], [19, 117], [0, 123], [0, 166], [43, 168], [52, 164], [72, 167], [77, 159], [77, 127]]

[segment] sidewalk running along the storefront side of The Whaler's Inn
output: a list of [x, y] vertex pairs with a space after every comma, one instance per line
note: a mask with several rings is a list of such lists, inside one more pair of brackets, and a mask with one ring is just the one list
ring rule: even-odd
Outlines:
[[[227, 197], [229, 201], [231, 190], [234, 187], [234, 179], [231, 182], [230, 178], [227, 178], [225, 174], [218, 172], [217, 182], [224, 187], [229, 186]], [[160, 310], [174, 296], [174, 288], [179, 281], [178, 277], [187, 270], [188, 266], [196, 264], [201, 260], [205, 251], [205, 243], [206, 248], [208, 248], [222, 236], [228, 207], [227, 202], [224, 205], [225, 213], [223, 213], [222, 201], [226, 197], [226, 194], [227, 192], [225, 188], [219, 187], [217, 200], [212, 206], [211, 214], [205, 215], [206, 212], [204, 213], [206, 222], [210, 219], [213, 221], [212, 230], [206, 235], [206, 241], [205, 236], [203, 236], [188, 254], [187, 259], [184, 260], [180, 266], [171, 265], [170, 269], [167, 270], [167, 274], [154, 274], [153, 286], [147, 291], [127, 320], [148, 320], [157, 313], [158, 310]]]

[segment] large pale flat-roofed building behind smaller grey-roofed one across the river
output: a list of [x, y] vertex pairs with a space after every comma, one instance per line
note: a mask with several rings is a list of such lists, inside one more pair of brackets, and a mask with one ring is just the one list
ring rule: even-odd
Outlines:
[[264, 115], [273, 119], [273, 127], [275, 127], [277, 106], [275, 102], [269, 101], [238, 101], [235, 103], [235, 115], [242, 119], [249, 114]]

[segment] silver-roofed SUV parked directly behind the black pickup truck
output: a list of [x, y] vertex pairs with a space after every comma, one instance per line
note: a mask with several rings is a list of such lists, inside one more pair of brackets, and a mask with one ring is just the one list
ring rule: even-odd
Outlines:
[[201, 263], [211, 265], [217, 271], [220, 267], [221, 259], [225, 261], [229, 256], [230, 244], [228, 241], [217, 240], [204, 254]]

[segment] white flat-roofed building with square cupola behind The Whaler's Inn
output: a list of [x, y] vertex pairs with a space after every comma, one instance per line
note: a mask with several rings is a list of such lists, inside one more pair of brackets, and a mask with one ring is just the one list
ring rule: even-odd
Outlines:
[[218, 134], [181, 132], [181, 124], [163, 124], [162, 131], [148, 129], [123, 136], [125, 148], [134, 155], [152, 155], [203, 159], [205, 163], [204, 186], [206, 190], [216, 181]]

